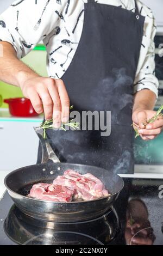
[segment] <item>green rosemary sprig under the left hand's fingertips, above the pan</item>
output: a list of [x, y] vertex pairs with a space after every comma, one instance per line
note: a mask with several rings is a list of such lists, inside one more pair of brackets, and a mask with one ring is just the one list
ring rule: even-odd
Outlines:
[[[72, 109], [73, 106], [70, 107], [70, 109]], [[71, 119], [70, 121], [66, 122], [66, 123], [62, 123], [60, 126], [60, 129], [66, 131], [65, 127], [69, 126], [72, 127], [72, 129], [77, 130], [79, 129], [79, 123], [77, 122], [73, 122], [73, 119]], [[46, 129], [55, 129], [55, 127], [53, 126], [53, 118], [50, 120], [45, 120], [42, 121], [42, 123], [40, 124], [40, 126], [38, 127], [38, 129], [43, 129], [43, 138], [46, 138]]]

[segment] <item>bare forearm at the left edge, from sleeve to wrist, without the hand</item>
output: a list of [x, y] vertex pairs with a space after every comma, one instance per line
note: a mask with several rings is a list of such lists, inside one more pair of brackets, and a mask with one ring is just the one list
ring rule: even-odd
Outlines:
[[20, 87], [27, 78], [39, 77], [26, 64], [16, 56], [14, 47], [8, 42], [1, 42], [3, 46], [2, 57], [0, 57], [0, 80]]

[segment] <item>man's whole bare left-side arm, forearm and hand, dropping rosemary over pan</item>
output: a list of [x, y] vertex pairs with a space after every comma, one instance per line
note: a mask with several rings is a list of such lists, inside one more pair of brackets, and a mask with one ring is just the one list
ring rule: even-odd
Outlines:
[[70, 100], [62, 80], [41, 77], [17, 58], [9, 42], [1, 42], [3, 57], [0, 58], [0, 80], [20, 87], [30, 99], [37, 113], [45, 112], [45, 119], [54, 119], [54, 127], [69, 119]]

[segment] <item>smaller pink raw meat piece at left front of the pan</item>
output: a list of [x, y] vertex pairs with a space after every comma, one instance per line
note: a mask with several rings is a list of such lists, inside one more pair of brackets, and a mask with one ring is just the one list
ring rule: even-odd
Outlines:
[[53, 202], [70, 202], [74, 191], [65, 186], [39, 183], [33, 185], [29, 197]]

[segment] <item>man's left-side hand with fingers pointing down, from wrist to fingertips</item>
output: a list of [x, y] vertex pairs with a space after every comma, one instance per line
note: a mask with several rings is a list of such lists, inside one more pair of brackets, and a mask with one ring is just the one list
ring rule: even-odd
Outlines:
[[37, 113], [44, 111], [47, 120], [53, 117], [55, 128], [69, 119], [70, 100], [62, 80], [34, 76], [21, 82], [20, 88]]

